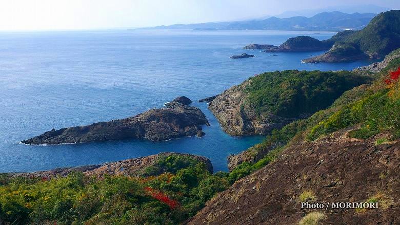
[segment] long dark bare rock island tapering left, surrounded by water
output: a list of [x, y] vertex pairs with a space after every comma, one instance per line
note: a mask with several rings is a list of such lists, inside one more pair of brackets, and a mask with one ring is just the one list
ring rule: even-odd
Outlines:
[[93, 141], [144, 138], [163, 141], [183, 136], [204, 136], [202, 125], [209, 125], [206, 116], [192, 101], [178, 97], [166, 104], [134, 117], [98, 122], [86, 126], [52, 129], [42, 135], [22, 141], [24, 144], [63, 144]]

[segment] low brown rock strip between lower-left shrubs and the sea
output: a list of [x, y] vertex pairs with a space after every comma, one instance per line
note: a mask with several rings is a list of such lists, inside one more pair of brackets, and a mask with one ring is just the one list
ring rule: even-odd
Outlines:
[[[40, 178], [52, 178], [62, 176], [65, 177], [73, 171], [83, 172], [87, 176], [104, 177], [105, 175], [121, 175], [121, 176], [143, 176], [145, 168], [154, 166], [157, 163], [158, 158], [164, 156], [187, 156], [191, 157], [199, 162], [204, 162], [207, 170], [212, 174], [213, 167], [211, 161], [203, 156], [196, 156], [191, 154], [182, 153], [159, 153], [157, 155], [140, 157], [135, 159], [127, 159], [117, 162], [104, 163], [99, 165], [87, 165], [79, 167], [68, 167], [68, 168], [56, 168], [50, 171], [39, 171], [33, 173], [12, 173], [13, 177], [40, 177]], [[162, 170], [159, 174], [165, 173]]]

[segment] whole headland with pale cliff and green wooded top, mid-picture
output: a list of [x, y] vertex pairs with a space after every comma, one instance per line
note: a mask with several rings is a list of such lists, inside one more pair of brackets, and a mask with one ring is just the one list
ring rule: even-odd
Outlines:
[[[344, 91], [368, 79], [349, 71], [266, 72], [212, 97], [208, 108], [229, 135], [268, 135], [328, 107]], [[327, 81], [332, 83], [327, 86]]]

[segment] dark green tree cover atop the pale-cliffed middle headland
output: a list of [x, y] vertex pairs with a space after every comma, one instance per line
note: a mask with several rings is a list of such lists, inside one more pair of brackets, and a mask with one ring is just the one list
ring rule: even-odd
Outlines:
[[251, 79], [246, 91], [256, 113], [290, 118], [326, 108], [346, 90], [370, 80], [350, 71], [318, 70], [266, 72]]

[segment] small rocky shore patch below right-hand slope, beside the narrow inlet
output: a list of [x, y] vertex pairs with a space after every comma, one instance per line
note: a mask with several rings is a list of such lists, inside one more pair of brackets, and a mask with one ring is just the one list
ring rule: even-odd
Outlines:
[[232, 154], [228, 156], [229, 171], [233, 171], [233, 169], [236, 166], [244, 162], [256, 163], [262, 158], [264, 158], [274, 148], [284, 145], [285, 143], [281, 142], [269, 144], [267, 146], [263, 146], [262, 144], [256, 144], [241, 153]]

